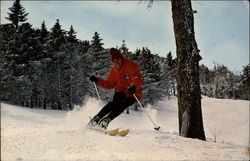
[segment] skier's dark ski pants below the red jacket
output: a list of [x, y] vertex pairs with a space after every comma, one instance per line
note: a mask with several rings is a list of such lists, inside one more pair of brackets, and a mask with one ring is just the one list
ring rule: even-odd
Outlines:
[[110, 120], [113, 120], [134, 103], [135, 99], [133, 97], [126, 97], [123, 92], [116, 92], [113, 101], [107, 103], [97, 116], [101, 119], [106, 116]]

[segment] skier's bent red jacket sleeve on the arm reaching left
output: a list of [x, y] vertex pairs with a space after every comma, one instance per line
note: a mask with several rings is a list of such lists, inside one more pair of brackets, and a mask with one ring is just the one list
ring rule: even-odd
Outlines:
[[116, 83], [114, 81], [114, 71], [113, 68], [110, 70], [108, 78], [102, 79], [102, 78], [98, 78], [98, 82], [97, 85], [101, 86], [102, 88], [106, 88], [106, 89], [112, 89], [115, 87]]

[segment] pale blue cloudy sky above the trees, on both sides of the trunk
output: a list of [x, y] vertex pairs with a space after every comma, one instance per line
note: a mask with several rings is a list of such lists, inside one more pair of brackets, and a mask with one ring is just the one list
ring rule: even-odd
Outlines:
[[[0, 1], [1, 24], [12, 0]], [[176, 57], [170, 1], [22, 1], [29, 13], [28, 21], [40, 28], [43, 21], [51, 29], [59, 19], [64, 30], [72, 25], [80, 40], [92, 40], [94, 32], [104, 47], [120, 47], [122, 40], [130, 51], [148, 47], [153, 54], [165, 57], [170, 51]], [[249, 2], [192, 1], [194, 30], [202, 60], [210, 69], [214, 64], [242, 71], [249, 64]]]

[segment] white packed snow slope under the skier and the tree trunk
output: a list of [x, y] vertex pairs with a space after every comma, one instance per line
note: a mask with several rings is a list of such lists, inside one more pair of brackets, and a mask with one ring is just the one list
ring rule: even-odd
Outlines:
[[249, 160], [248, 101], [203, 97], [206, 142], [178, 136], [175, 97], [146, 108], [161, 126], [158, 132], [142, 111], [123, 113], [113, 120], [109, 129], [129, 128], [126, 137], [85, 127], [89, 116], [103, 105], [89, 98], [74, 111], [55, 111], [1, 103], [1, 160]]

